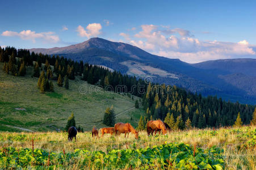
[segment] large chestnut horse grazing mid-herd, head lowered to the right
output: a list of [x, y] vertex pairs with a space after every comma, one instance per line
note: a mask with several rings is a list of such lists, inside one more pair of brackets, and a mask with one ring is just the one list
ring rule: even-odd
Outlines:
[[139, 138], [139, 133], [129, 123], [126, 123], [126, 124], [117, 123], [117, 124], [115, 124], [115, 133], [116, 134], [117, 134], [117, 131], [119, 131], [119, 133], [124, 133], [124, 137], [126, 137], [127, 133], [128, 133], [128, 135], [127, 135], [127, 137], [128, 137], [129, 133], [132, 132], [133, 134], [135, 134], [136, 139]]

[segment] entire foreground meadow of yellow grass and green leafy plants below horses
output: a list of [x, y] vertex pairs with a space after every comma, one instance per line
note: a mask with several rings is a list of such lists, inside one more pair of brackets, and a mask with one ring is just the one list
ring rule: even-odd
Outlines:
[[154, 137], [140, 131], [139, 137], [92, 139], [86, 132], [78, 133], [77, 142], [68, 142], [66, 133], [5, 132], [0, 133], [0, 164], [5, 168], [256, 168], [255, 126], [171, 131]]

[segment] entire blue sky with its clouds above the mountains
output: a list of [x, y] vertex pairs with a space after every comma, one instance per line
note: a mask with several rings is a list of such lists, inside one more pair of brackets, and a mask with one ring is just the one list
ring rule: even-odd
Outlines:
[[256, 58], [256, 1], [5, 1], [0, 16], [0, 46], [102, 37], [186, 62]]

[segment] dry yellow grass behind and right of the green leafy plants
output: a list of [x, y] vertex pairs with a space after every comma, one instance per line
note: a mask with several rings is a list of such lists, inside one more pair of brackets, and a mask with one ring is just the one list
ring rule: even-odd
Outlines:
[[[112, 149], [144, 148], [162, 145], [165, 142], [183, 142], [192, 146], [209, 148], [217, 146], [223, 149], [225, 169], [255, 169], [256, 164], [256, 127], [189, 131], [172, 131], [168, 135], [156, 135], [154, 137], [146, 134], [146, 131], [140, 131], [139, 140], [136, 140], [133, 134], [128, 138], [124, 135], [119, 136], [110, 134], [102, 138], [91, 138], [91, 133], [78, 133], [77, 142], [68, 142], [66, 133], [0, 133], [0, 147], [23, 147], [32, 148], [32, 137], [35, 139], [35, 148], [42, 148], [54, 152], [73, 152], [77, 148], [83, 148], [89, 151], [108, 152]], [[254, 141], [249, 145], [248, 141]], [[79, 165], [77, 165], [79, 166]]]

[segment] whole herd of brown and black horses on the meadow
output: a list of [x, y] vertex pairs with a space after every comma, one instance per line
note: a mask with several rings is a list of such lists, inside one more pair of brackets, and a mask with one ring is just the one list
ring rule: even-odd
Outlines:
[[[156, 135], [157, 132], [159, 132], [160, 134], [161, 131], [163, 134], [166, 134], [167, 130], [170, 130], [170, 127], [165, 122], [162, 122], [161, 120], [150, 120], [146, 124], [146, 131], [148, 132], [148, 135], [150, 134], [153, 135], [153, 133]], [[104, 134], [117, 135], [117, 133], [118, 134], [124, 133], [124, 137], [126, 137], [126, 134], [127, 134], [127, 137], [128, 137], [129, 133], [131, 132], [135, 134], [136, 139], [139, 138], [139, 132], [136, 131], [132, 127], [132, 125], [129, 123], [124, 124], [119, 122], [115, 124], [115, 126], [112, 128], [101, 128], [99, 129], [99, 131], [102, 133], [101, 137], [103, 137]], [[99, 137], [99, 131], [94, 126], [93, 130], [91, 131], [92, 137], [93, 138]], [[74, 126], [70, 127], [68, 130], [68, 140], [72, 141], [72, 139], [75, 138], [75, 141], [77, 141], [76, 136], [77, 136], [77, 129]]]

